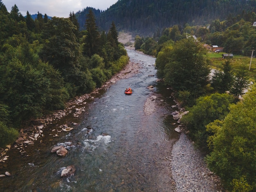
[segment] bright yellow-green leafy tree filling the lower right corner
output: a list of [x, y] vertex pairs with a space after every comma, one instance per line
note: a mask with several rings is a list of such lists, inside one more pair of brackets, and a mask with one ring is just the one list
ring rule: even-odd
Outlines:
[[[230, 190], [256, 190], [256, 88], [231, 105], [225, 119], [207, 125], [212, 152], [206, 160]], [[238, 182], [241, 182], [238, 186]], [[250, 190], [252, 188], [252, 190]]]

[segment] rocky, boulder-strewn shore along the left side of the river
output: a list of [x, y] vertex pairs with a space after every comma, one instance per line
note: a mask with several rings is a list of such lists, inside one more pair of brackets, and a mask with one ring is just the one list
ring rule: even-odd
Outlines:
[[[134, 47], [127, 47], [127, 49], [134, 49]], [[55, 111], [53, 114], [44, 116], [40, 119], [32, 120], [27, 123], [27, 125], [20, 129], [20, 134], [13, 145], [7, 145], [5, 149], [0, 149], [0, 162], [4, 163], [8, 161], [9, 150], [19, 150], [20, 154], [23, 155], [26, 153], [25, 149], [28, 145], [34, 145], [36, 142], [43, 142], [44, 130], [47, 129], [48, 125], [58, 123], [65, 116], [72, 114], [75, 118], [85, 112], [86, 103], [94, 100], [94, 96], [97, 96], [102, 89], [108, 89], [112, 84], [117, 80], [122, 78], [130, 78], [134, 74], [139, 73], [140, 65], [138, 63], [129, 62], [123, 70], [115, 74], [110, 80], [102, 85], [102, 87], [95, 89], [90, 94], [84, 94], [78, 96], [73, 100], [70, 100], [66, 103], [66, 109]], [[60, 125], [57, 129], [52, 131], [52, 137], [58, 137], [60, 132], [68, 132], [67, 130], [72, 129], [72, 126], [77, 125], [77, 123], [69, 123], [65, 125]]]

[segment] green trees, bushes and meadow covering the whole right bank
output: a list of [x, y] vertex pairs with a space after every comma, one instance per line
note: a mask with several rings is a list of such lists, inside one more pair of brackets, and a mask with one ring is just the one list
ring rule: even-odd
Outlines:
[[[256, 191], [256, 26], [251, 19], [256, 21], [254, 12], [135, 38], [135, 49], [156, 56], [157, 77], [189, 111], [181, 119], [187, 134], [232, 192]], [[224, 59], [206, 44], [223, 46], [222, 53], [234, 58]]]

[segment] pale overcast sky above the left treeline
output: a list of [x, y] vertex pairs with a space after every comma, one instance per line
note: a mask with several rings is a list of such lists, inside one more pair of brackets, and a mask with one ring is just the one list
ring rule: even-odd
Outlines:
[[106, 10], [118, 0], [2, 0], [8, 12], [14, 4], [17, 5], [20, 13], [26, 16], [41, 13], [47, 16], [69, 17], [70, 12], [76, 13], [83, 8], [93, 7], [95, 9]]

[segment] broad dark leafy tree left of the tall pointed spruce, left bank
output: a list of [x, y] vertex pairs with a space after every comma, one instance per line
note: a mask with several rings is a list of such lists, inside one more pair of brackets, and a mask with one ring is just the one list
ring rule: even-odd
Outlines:
[[46, 39], [40, 56], [64, 77], [69, 76], [71, 68], [78, 67], [79, 43], [74, 34], [76, 27], [68, 18], [56, 18], [46, 24], [43, 36]]

